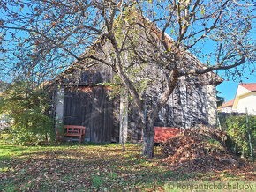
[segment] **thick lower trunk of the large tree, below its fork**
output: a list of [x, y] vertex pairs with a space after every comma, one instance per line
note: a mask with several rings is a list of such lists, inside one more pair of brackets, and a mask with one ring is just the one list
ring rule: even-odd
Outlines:
[[147, 158], [154, 158], [154, 122], [147, 123], [143, 129], [143, 149], [142, 155]]

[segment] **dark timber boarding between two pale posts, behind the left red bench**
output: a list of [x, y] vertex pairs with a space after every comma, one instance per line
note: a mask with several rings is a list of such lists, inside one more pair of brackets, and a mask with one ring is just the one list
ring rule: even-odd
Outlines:
[[102, 85], [65, 88], [64, 124], [85, 126], [86, 140], [118, 142], [117, 104], [107, 91]]

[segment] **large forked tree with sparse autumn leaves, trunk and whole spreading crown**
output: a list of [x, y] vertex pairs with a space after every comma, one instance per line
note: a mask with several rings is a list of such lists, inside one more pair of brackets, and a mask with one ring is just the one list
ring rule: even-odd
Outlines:
[[[250, 1], [3, 0], [0, 7], [3, 66], [35, 81], [54, 78], [72, 62], [109, 66], [139, 108], [142, 153], [149, 158], [154, 120], [178, 78], [214, 70], [238, 77], [245, 69], [253, 72]], [[97, 55], [94, 49], [104, 44], [109, 51]], [[206, 65], [192, 64], [199, 61], [191, 54]], [[145, 113], [155, 85], [163, 86], [162, 94]]]

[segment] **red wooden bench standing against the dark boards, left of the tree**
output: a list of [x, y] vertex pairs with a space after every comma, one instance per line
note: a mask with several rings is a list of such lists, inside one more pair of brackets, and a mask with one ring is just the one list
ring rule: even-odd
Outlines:
[[[64, 125], [64, 137], [79, 137], [80, 142], [85, 141], [86, 128], [79, 125]], [[62, 140], [63, 137], [61, 137]]]

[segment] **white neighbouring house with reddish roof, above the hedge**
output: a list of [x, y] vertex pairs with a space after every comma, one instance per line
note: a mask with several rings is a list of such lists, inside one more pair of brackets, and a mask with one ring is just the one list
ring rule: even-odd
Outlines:
[[245, 113], [256, 115], [256, 83], [239, 84], [237, 87], [236, 97], [224, 103], [221, 111], [225, 113]]

